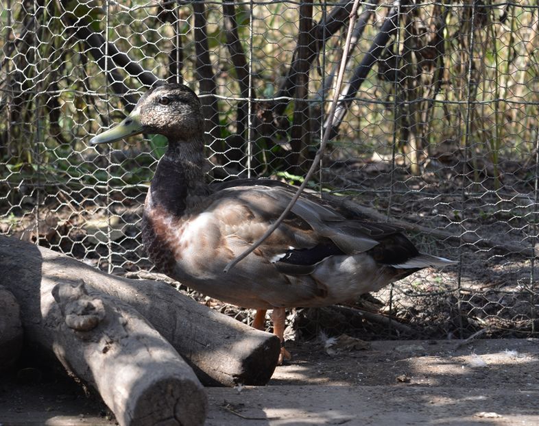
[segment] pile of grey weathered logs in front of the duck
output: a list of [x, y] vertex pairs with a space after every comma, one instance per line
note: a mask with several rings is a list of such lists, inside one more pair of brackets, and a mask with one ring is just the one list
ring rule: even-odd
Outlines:
[[97, 390], [120, 425], [203, 424], [202, 384], [263, 385], [277, 364], [276, 336], [169, 284], [108, 275], [5, 236], [0, 271], [0, 303], [12, 309], [0, 310], [0, 360], [13, 364], [24, 330], [25, 348]]

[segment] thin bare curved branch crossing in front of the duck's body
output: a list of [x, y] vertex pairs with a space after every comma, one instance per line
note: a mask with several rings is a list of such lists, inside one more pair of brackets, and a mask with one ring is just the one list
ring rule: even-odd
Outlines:
[[[355, 23], [357, 5], [358, 4], [359, 4], [359, 0], [354, 0], [354, 5], [352, 7], [352, 12], [350, 13], [350, 22], [348, 24], [348, 33], [347, 33], [347, 36], [346, 36], [346, 42], [344, 44], [344, 51], [345, 52], [348, 51], [348, 47], [350, 46], [350, 40], [352, 38], [352, 28], [354, 27], [354, 23]], [[336, 90], [335, 90], [335, 95], [333, 96], [333, 101], [331, 102], [330, 117], [334, 116], [335, 108], [337, 108], [338, 95], [339, 95], [339, 92], [340, 92], [340, 89], [341, 89], [341, 86], [342, 86], [344, 70], [346, 68], [346, 56], [347, 56], [346, 54], [343, 55], [343, 58], [342, 58], [342, 61], [341, 61], [341, 68], [339, 69], [339, 74], [337, 75], [337, 85], [336, 85], [337, 87], [336, 87]], [[330, 126], [328, 127], [328, 129], [331, 129], [331, 125], [333, 125], [332, 121], [330, 121]], [[302, 194], [305, 186], [307, 186], [307, 183], [311, 179], [311, 176], [315, 172], [315, 169], [318, 167], [318, 164], [320, 164], [320, 160], [322, 159], [322, 156], [324, 155], [324, 149], [326, 148], [326, 145], [327, 145], [328, 140], [329, 140], [329, 135], [330, 135], [330, 131], [326, 130], [324, 132], [324, 137], [322, 138], [322, 142], [320, 142], [320, 148], [318, 149], [318, 151], [317, 151], [317, 153], [315, 155], [315, 158], [313, 160], [313, 164], [311, 164], [311, 168], [309, 168], [309, 172], [307, 172], [307, 175], [305, 176], [305, 179], [303, 180], [302, 184], [300, 185], [300, 187], [296, 191], [296, 194], [294, 194], [294, 197], [292, 197], [292, 199], [290, 200], [289, 204], [287, 205], [287, 208], [285, 208], [283, 213], [280, 214], [280, 216], [273, 223], [273, 225], [271, 227], [269, 227], [265, 231], [264, 235], [261, 236], [261, 238], [259, 238], [258, 240], [256, 240], [256, 242], [254, 242], [252, 244], [252, 246], [249, 247], [249, 249], [243, 251], [243, 253], [241, 253], [234, 260], [231, 260], [230, 262], [228, 262], [228, 264], [224, 268], [224, 272], [230, 271], [230, 268], [234, 267], [235, 264], [237, 264], [239, 261], [241, 261], [247, 255], [252, 253], [252, 251], [254, 251], [256, 249], [256, 247], [259, 247], [259, 245], [261, 245], [262, 242], [264, 242], [264, 240], [267, 237], [269, 237], [273, 233], [273, 231], [275, 231], [275, 229], [277, 229], [280, 226], [280, 223], [283, 222], [283, 220], [285, 219], [287, 214], [289, 214], [290, 210], [292, 210], [292, 208], [294, 207], [294, 204], [296, 204], [296, 201], [298, 201], [298, 198], [300, 198], [300, 195]]]

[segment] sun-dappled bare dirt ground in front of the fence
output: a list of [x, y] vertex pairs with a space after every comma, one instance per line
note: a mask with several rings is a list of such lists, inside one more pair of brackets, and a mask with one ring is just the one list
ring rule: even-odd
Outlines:
[[[538, 425], [539, 340], [288, 344], [268, 386], [207, 388], [206, 425]], [[114, 425], [69, 381], [0, 384], [0, 425]]]

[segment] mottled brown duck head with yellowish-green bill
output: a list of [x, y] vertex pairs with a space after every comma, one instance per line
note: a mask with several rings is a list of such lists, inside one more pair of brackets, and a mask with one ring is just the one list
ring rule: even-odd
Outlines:
[[204, 118], [195, 92], [183, 84], [165, 84], [146, 92], [125, 119], [94, 136], [90, 145], [110, 143], [136, 134], [162, 134], [169, 143], [203, 133]]

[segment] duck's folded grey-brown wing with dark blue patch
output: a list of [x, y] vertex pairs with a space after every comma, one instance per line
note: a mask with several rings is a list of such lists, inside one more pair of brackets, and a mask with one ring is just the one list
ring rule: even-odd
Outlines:
[[[249, 244], [276, 221], [296, 192], [280, 182], [251, 179], [217, 188], [210, 210], [219, 215], [225, 227], [236, 223], [225, 233]], [[386, 223], [346, 218], [328, 203], [302, 195], [259, 251], [287, 275], [308, 275], [332, 255], [370, 252], [377, 262], [403, 264], [418, 251], [400, 231], [400, 227]]]

